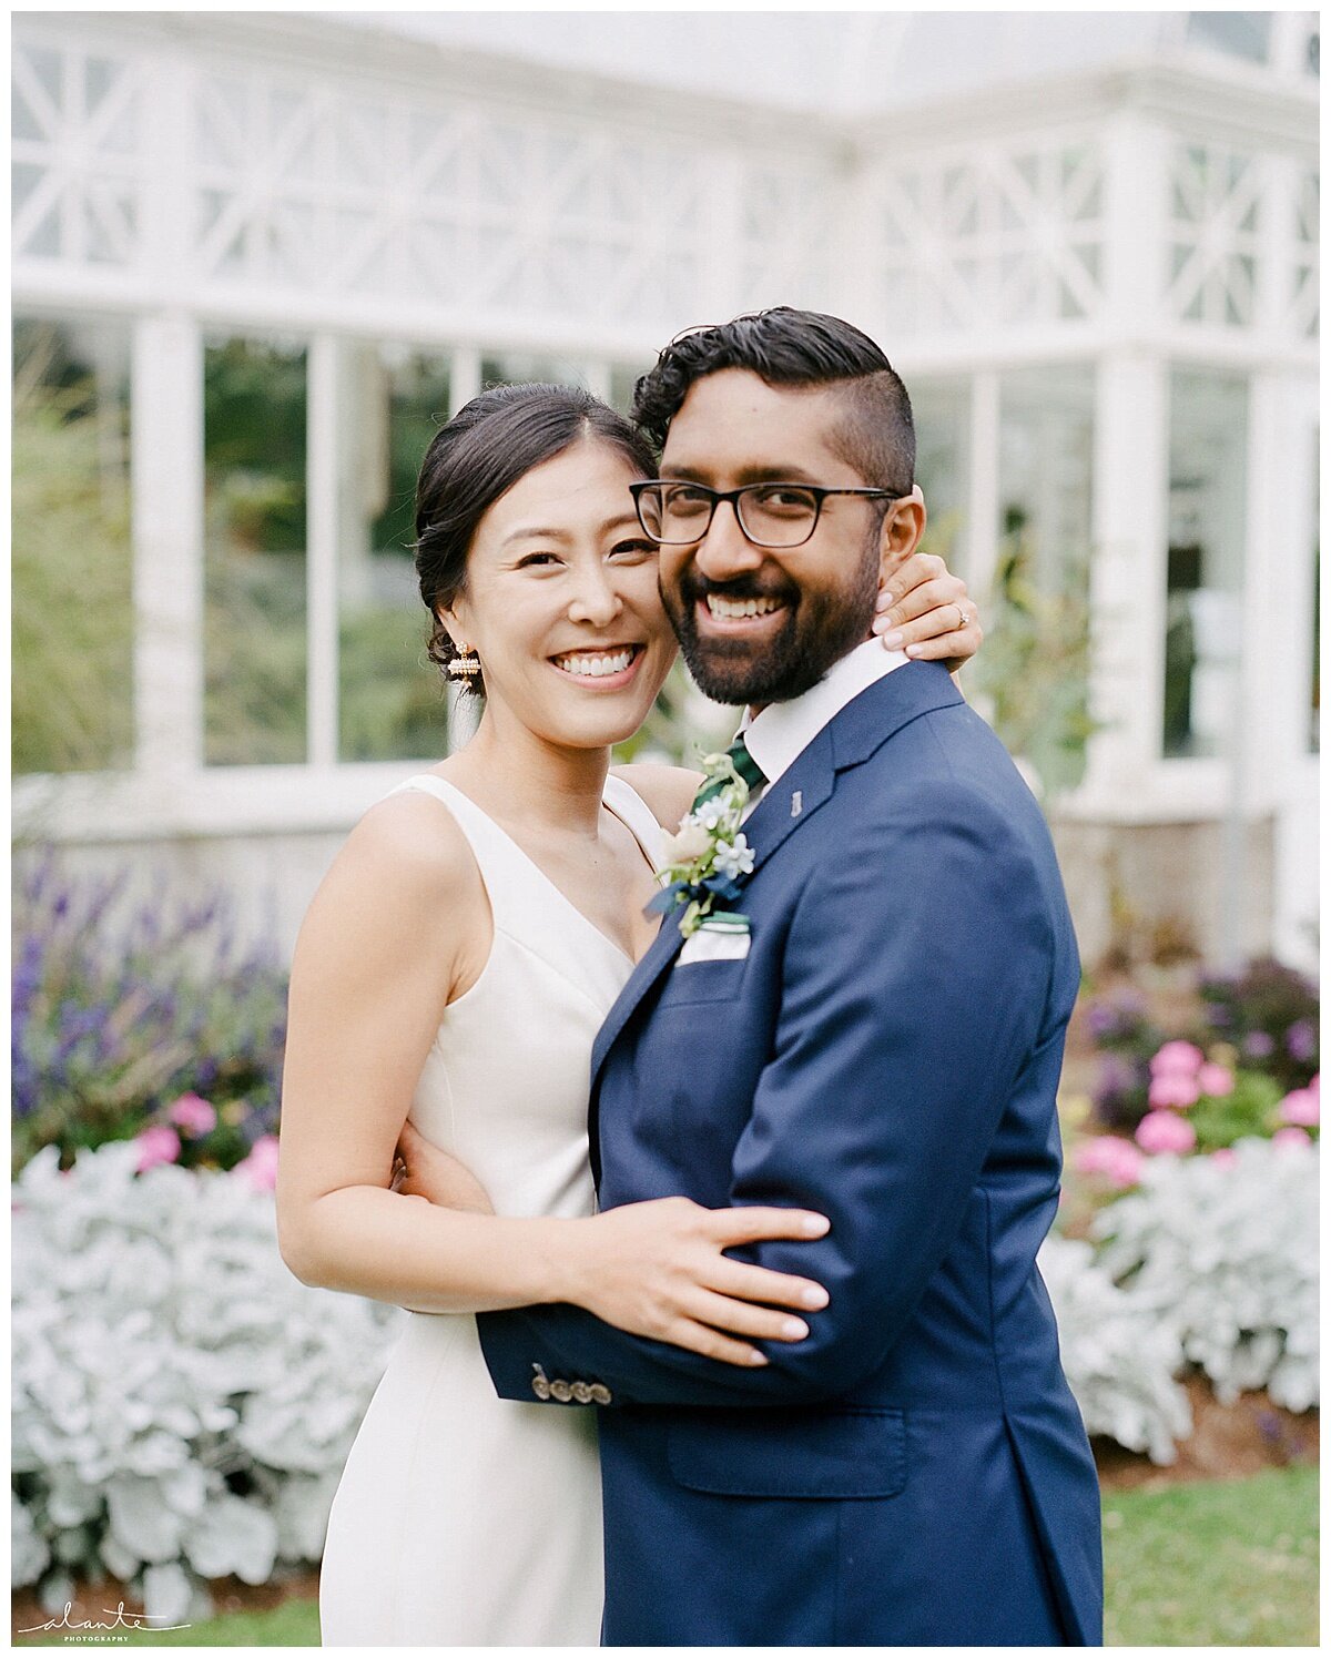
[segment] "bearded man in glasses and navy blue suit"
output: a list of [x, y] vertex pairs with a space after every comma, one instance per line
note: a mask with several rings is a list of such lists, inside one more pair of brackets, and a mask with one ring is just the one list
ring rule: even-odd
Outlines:
[[1034, 1267], [1077, 952], [1003, 746], [870, 638], [923, 529], [905, 388], [782, 308], [668, 347], [635, 413], [685, 658], [749, 705], [754, 867], [688, 938], [665, 917], [602, 1030], [600, 1204], [819, 1210], [822, 1240], [748, 1253], [830, 1305], [754, 1370], [484, 1313], [491, 1374], [605, 1406], [608, 1645], [1099, 1643], [1096, 1471]]

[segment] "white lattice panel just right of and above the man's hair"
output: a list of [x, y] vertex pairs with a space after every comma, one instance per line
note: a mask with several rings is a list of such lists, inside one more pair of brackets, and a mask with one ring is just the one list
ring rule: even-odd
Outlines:
[[1094, 141], [922, 156], [872, 186], [893, 333], [1096, 318], [1104, 161]]

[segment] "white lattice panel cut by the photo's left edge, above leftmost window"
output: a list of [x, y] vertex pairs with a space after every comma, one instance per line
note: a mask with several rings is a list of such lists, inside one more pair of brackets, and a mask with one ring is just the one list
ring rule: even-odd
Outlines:
[[15, 260], [138, 264], [141, 66], [15, 38], [12, 88]]

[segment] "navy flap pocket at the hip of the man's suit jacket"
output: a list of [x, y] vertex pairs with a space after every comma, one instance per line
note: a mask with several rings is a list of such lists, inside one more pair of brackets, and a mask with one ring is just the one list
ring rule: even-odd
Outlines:
[[900, 1411], [699, 1411], [668, 1428], [670, 1471], [724, 1497], [895, 1497], [905, 1486]]

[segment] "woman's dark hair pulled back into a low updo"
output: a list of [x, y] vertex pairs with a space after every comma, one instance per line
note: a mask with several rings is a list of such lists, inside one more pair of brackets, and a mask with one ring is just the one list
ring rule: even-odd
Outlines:
[[643, 478], [656, 458], [638, 428], [578, 386], [492, 386], [434, 433], [416, 481], [416, 575], [431, 617], [429, 660], [457, 655], [439, 608], [466, 587], [476, 526], [534, 466], [583, 438], [618, 449]]

